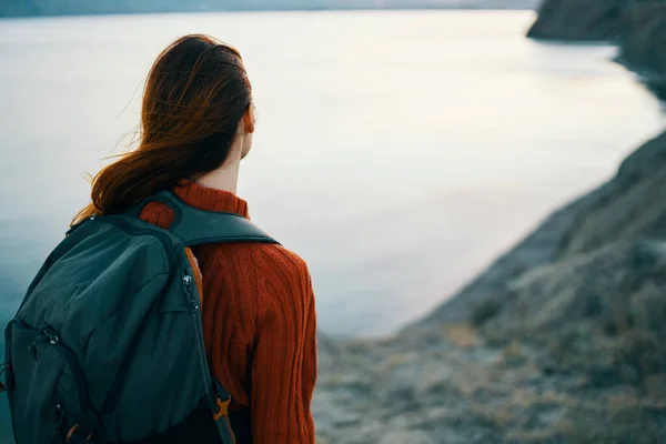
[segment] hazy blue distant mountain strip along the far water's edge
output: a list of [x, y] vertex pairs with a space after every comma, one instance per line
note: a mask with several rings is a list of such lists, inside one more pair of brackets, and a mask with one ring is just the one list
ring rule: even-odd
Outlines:
[[539, 0], [3, 0], [0, 17], [201, 11], [534, 9]]

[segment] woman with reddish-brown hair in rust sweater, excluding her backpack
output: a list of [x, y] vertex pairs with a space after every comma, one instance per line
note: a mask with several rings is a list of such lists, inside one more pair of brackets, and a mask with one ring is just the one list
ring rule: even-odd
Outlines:
[[[73, 223], [122, 212], [164, 189], [191, 206], [249, 218], [235, 191], [254, 125], [239, 52], [206, 36], [176, 40], [150, 71], [138, 149], [94, 178], [92, 203]], [[174, 214], [152, 202], [140, 218], [168, 228]], [[261, 243], [206, 244], [193, 255], [209, 363], [232, 396], [236, 442], [314, 443], [316, 329], [305, 263]]]

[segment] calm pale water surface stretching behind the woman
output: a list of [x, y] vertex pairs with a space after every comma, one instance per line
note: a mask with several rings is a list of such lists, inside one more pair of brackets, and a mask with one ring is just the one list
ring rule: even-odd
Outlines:
[[0, 21], [0, 311], [127, 147], [157, 53], [240, 48], [259, 108], [240, 195], [311, 266], [320, 326], [383, 334], [608, 178], [663, 124], [609, 47], [523, 38], [532, 12]]

